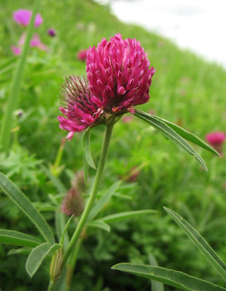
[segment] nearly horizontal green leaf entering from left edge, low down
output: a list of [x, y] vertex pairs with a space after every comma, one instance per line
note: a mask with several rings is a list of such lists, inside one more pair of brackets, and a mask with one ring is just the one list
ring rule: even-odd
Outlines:
[[28, 234], [14, 230], [5, 229], [0, 230], [0, 242], [17, 246], [28, 246], [30, 248], [35, 248], [36, 246], [43, 243], [41, 240], [36, 239], [34, 236], [30, 236]]

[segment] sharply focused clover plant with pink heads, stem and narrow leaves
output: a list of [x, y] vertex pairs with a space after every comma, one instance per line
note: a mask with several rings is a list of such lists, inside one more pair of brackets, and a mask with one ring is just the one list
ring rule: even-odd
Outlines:
[[[29, 37], [31, 38], [31, 33]], [[25, 41], [25, 44], [27, 43], [28, 46], [29, 42], [30, 39], [28, 39], [27, 42]], [[77, 177], [74, 179], [73, 188], [67, 192], [61, 205], [61, 211], [71, 216], [67, 224], [64, 223], [64, 214], [59, 212], [59, 209], [56, 211], [56, 216], [64, 226], [58, 243], [55, 241], [51, 227], [35, 205], [14, 185], [14, 183], [11, 182], [11, 180], [8, 179], [8, 177], [1, 174], [1, 187], [3, 191], [24, 211], [43, 237], [43, 240], [39, 240], [24, 233], [1, 230], [2, 242], [32, 248], [26, 262], [26, 269], [31, 277], [36, 273], [42, 261], [48, 255], [52, 254], [48, 290], [55, 289], [61, 276], [64, 277], [63, 279], [65, 279], [66, 282], [65, 289], [70, 290], [72, 274], [87, 227], [95, 227], [109, 231], [109, 222], [128, 217], [136, 217], [142, 214], [156, 213], [155, 210], [145, 209], [120, 212], [96, 219], [97, 214], [99, 214], [121, 183], [121, 181], [116, 181], [99, 199], [97, 199], [102, 176], [104, 174], [113, 127], [124, 114], [132, 114], [130, 116], [134, 115], [154, 127], [167, 139], [174, 142], [177, 146], [195, 158], [206, 170], [206, 164], [201, 156], [187, 141], [185, 141], [185, 139], [195, 143], [203, 149], [219, 155], [218, 152], [206, 142], [176, 124], [136, 109], [135, 106], [149, 101], [149, 90], [155, 71], [153, 66], [150, 67], [147, 53], [145, 53], [144, 49], [141, 47], [140, 42], [136, 39], [123, 39], [121, 34], [118, 33], [111, 37], [110, 41], [102, 39], [97, 47], [89, 47], [86, 52], [86, 77], [75, 77], [72, 75], [65, 78], [65, 83], [62, 84], [60, 107], [60, 111], [65, 117], [58, 117], [60, 123], [59, 127], [68, 131], [68, 141], [71, 141], [75, 133], [82, 132], [83, 130], [85, 131], [83, 139], [84, 170], [83, 174], [77, 174]], [[90, 131], [93, 127], [100, 124], [105, 126], [105, 133], [99, 163], [96, 167], [90, 151]], [[55, 162], [56, 168], [59, 167], [64, 142], [61, 144], [62, 149], [59, 150], [59, 158]], [[96, 176], [92, 184], [89, 198], [83, 206], [81, 192], [86, 192], [83, 177], [87, 182], [88, 166], [96, 170]], [[48, 171], [46, 171], [46, 173], [51, 176], [51, 173]], [[139, 173], [139, 167], [132, 169], [129, 178], [134, 180]], [[53, 179], [54, 178], [55, 177], [53, 177]], [[64, 192], [64, 185], [59, 183], [58, 187]], [[50, 199], [57, 205], [56, 197], [50, 195]], [[224, 262], [211, 249], [200, 234], [177, 213], [168, 208], [165, 208], [165, 210], [184, 230], [206, 258], [208, 258], [218, 273], [225, 278]], [[75, 215], [79, 216], [80, 214], [81, 216], [78, 220], [77, 218], [73, 220]], [[72, 224], [72, 221], [75, 223], [77, 222], [77, 226], [74, 229], [73, 235], [69, 238], [67, 235], [67, 228]], [[203, 290], [203, 288], [206, 288], [205, 290], [225, 290], [205, 280], [158, 266], [117, 264], [112, 268], [167, 283], [184, 290]], [[63, 271], [63, 269], [65, 271]]]

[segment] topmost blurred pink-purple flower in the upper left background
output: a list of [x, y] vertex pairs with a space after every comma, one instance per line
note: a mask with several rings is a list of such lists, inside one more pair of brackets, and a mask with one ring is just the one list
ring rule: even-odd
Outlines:
[[[19, 9], [13, 12], [13, 19], [22, 26], [28, 26], [31, 19], [32, 11]], [[34, 26], [39, 27], [43, 22], [41, 14], [36, 14]]]

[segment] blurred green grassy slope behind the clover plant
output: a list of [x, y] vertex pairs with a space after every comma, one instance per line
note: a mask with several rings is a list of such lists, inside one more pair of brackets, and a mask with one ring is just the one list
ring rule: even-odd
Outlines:
[[[63, 82], [64, 75], [85, 74], [85, 63], [77, 59], [78, 50], [97, 45], [103, 37], [109, 39], [118, 32], [124, 38], [139, 39], [151, 65], [157, 68], [150, 87], [150, 101], [140, 109], [152, 110], [157, 116], [202, 139], [209, 131], [225, 131], [225, 70], [222, 67], [189, 51], [179, 50], [169, 40], [140, 27], [121, 23], [107, 7], [91, 0], [43, 0], [41, 3], [44, 22], [37, 32], [49, 47], [49, 52], [31, 50], [20, 96], [24, 116], [18, 120], [19, 143], [29, 155], [36, 153], [36, 158], [44, 159], [45, 164], [54, 162], [60, 141], [67, 134], [59, 129], [56, 119], [59, 115], [59, 83]], [[33, 1], [1, 1], [1, 64], [13, 56], [10, 46], [16, 45], [23, 32], [13, 22], [12, 12], [20, 8], [31, 10], [32, 5]], [[55, 38], [47, 35], [49, 27], [57, 30]], [[1, 77], [1, 115], [5, 111], [12, 72]], [[99, 126], [91, 132], [95, 162], [98, 161], [103, 130]], [[82, 138], [83, 133], [78, 133], [65, 145], [62, 163], [75, 172], [82, 167]], [[165, 205], [182, 215], [224, 260], [225, 144], [221, 159], [203, 149], [195, 149], [204, 158], [208, 172], [137, 118], [133, 117], [130, 123], [120, 120], [115, 125], [102, 188], [127, 176], [134, 167], [140, 164], [144, 167], [136, 179], [137, 186], [122, 193], [133, 199], [114, 197], [104, 213], [152, 208], [159, 210], [159, 214], [114, 223], [110, 234], [90, 232], [78, 260], [74, 290], [101, 290], [104, 287], [110, 290], [149, 290], [148, 280], [127, 274], [116, 275], [110, 270], [113, 264], [123, 261], [147, 264], [149, 252], [155, 255], [162, 267], [222, 284], [215, 270], [162, 209]], [[92, 169], [89, 172], [91, 177], [95, 174]], [[36, 173], [38, 182], [29, 178], [21, 180], [20, 173], [11, 179], [32, 201], [46, 201], [49, 192], [56, 193], [55, 187], [40, 171]], [[67, 188], [70, 187], [65, 171], [60, 179]], [[4, 196], [1, 215], [2, 227], [34, 234], [23, 215]], [[52, 214], [47, 213], [46, 217], [53, 225]], [[17, 259], [24, 266], [24, 256], [7, 257], [9, 249], [10, 246], [1, 246], [2, 289], [45, 289], [48, 264], [43, 264], [32, 281], [25, 268], [16, 268]], [[11, 273], [14, 280], [9, 279]]]

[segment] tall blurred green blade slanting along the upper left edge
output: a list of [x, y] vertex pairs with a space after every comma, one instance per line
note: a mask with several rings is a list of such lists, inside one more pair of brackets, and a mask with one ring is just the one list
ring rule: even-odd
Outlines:
[[10, 143], [10, 136], [11, 136], [11, 125], [12, 125], [12, 118], [13, 118], [13, 111], [16, 109], [20, 94], [20, 88], [24, 76], [24, 67], [26, 64], [26, 58], [30, 47], [30, 40], [32, 37], [33, 29], [34, 29], [34, 20], [35, 15], [38, 13], [39, 10], [39, 4], [40, 0], [36, 0], [33, 14], [30, 20], [30, 24], [27, 29], [27, 36], [24, 42], [24, 47], [21, 53], [21, 57], [19, 60], [18, 67], [16, 69], [13, 83], [12, 83], [12, 89], [9, 95], [7, 108], [5, 111], [3, 124], [2, 124], [2, 133], [1, 133], [1, 139], [0, 143], [2, 144], [2, 151], [8, 151], [8, 146]]

